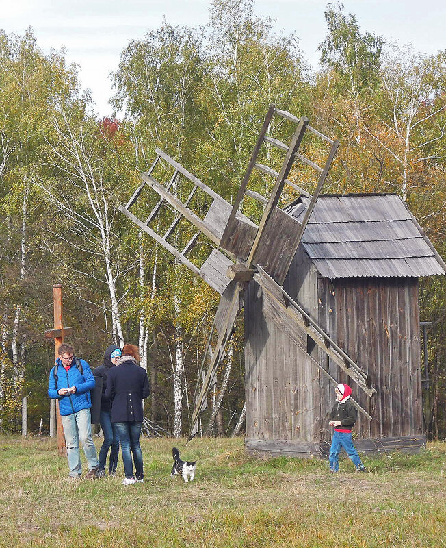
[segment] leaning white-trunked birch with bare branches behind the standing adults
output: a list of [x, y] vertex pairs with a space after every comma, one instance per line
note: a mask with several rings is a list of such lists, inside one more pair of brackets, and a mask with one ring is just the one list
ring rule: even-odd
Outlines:
[[[116, 334], [119, 345], [124, 345], [124, 332], [121, 322], [122, 299], [118, 292], [118, 278], [125, 277], [135, 269], [137, 254], [124, 260], [118, 231], [114, 224], [118, 213], [118, 192], [107, 180], [107, 166], [104, 155], [113, 153], [104, 140], [98, 139], [98, 127], [93, 121], [77, 121], [74, 114], [60, 110], [51, 118], [53, 140], [47, 142], [48, 165], [57, 174], [48, 182], [40, 179], [37, 183], [42, 196], [51, 203], [57, 212], [59, 231], [57, 234], [47, 227], [47, 251], [57, 254], [57, 249], [68, 246], [78, 259], [70, 260], [66, 255], [65, 277], [80, 295], [83, 291], [79, 277], [90, 279], [94, 284], [105, 284], [112, 316], [112, 333]], [[105, 151], [98, 149], [98, 142]], [[116, 182], [116, 181], [115, 181]], [[53, 246], [52, 241], [57, 245]], [[99, 268], [92, 269], [89, 261], [79, 260], [88, 253], [95, 258]], [[74, 258], [74, 255], [71, 255]], [[85, 298], [85, 297], [84, 297]]]

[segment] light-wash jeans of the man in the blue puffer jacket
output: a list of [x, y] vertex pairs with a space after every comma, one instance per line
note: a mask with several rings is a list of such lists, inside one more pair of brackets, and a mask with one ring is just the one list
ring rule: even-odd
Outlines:
[[64, 426], [66, 454], [70, 476], [79, 477], [82, 473], [81, 453], [79, 441], [83, 445], [83, 452], [86, 454], [88, 469], [96, 468], [98, 465], [98, 453], [92, 438], [92, 419], [90, 409], [81, 409], [70, 415], [62, 416]]

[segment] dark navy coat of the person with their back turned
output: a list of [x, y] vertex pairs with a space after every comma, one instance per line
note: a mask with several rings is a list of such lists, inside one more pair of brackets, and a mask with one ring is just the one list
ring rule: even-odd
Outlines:
[[112, 401], [112, 423], [142, 422], [142, 400], [149, 395], [143, 367], [129, 361], [109, 369], [105, 397]]

